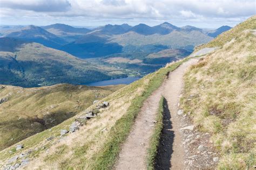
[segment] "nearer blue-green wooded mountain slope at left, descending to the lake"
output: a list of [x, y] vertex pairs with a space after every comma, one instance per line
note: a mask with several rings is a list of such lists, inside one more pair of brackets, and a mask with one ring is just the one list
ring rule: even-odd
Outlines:
[[[124, 76], [115, 68], [97, 66], [35, 42], [0, 38], [0, 83], [22, 87], [57, 83], [83, 84]], [[10, 42], [18, 42], [10, 48]], [[12, 44], [14, 45], [14, 44]]]

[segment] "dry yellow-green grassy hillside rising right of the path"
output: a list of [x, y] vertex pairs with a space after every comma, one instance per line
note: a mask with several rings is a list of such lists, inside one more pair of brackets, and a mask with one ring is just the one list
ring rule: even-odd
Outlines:
[[218, 168], [256, 165], [256, 16], [203, 47], [219, 46], [188, 70], [181, 100], [194, 124], [212, 134]]

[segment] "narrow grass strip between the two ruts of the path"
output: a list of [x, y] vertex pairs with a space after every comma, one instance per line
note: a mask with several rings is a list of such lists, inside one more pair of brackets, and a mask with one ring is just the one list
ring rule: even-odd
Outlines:
[[159, 102], [159, 108], [156, 118], [156, 125], [154, 126], [154, 132], [150, 139], [149, 150], [147, 150], [147, 169], [154, 169], [155, 159], [157, 156], [157, 149], [161, 137], [161, 131], [163, 129], [163, 117], [164, 117], [164, 97], [161, 97]]

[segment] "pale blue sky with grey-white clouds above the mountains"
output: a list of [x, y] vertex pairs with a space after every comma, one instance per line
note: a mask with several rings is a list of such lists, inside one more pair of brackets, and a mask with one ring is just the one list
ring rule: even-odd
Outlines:
[[0, 25], [154, 26], [169, 22], [217, 28], [235, 26], [253, 15], [255, 0], [0, 0]]

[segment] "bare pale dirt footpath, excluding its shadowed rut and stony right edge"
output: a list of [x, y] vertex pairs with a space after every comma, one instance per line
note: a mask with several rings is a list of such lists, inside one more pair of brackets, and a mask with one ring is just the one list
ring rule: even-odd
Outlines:
[[183, 168], [183, 157], [185, 151], [184, 147], [181, 145], [182, 140], [179, 132], [180, 127], [178, 124], [178, 117], [176, 117], [177, 104], [179, 101], [179, 95], [183, 88], [183, 75], [185, 70], [197, 61], [197, 59], [191, 59], [183, 63], [176, 70], [170, 73], [169, 79], [167, 79], [160, 88], [154, 91], [154, 93], [147, 98], [143, 104], [142, 111], [134, 123], [129, 137], [122, 146], [122, 151], [119, 154], [119, 159], [115, 166], [116, 169], [146, 169], [145, 160], [147, 148], [149, 147], [149, 140], [153, 133], [153, 121], [155, 121], [156, 118], [161, 95], [165, 96], [167, 100], [166, 102], [169, 105], [168, 109], [170, 110], [170, 116], [172, 117], [170, 130], [173, 131], [172, 134], [174, 136], [174, 144], [172, 148], [170, 148], [173, 152], [171, 152], [168, 157], [171, 158], [171, 163], [170, 160], [165, 162], [167, 162], [167, 164], [169, 162], [169, 167], [171, 166], [173, 169]]

